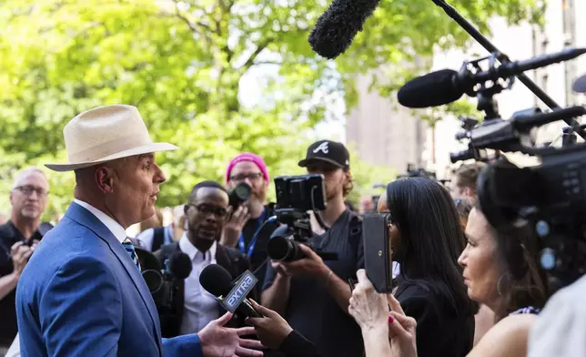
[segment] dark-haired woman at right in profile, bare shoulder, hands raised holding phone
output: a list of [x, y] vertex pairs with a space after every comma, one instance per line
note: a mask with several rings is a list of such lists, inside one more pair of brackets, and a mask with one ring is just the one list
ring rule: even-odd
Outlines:
[[[549, 296], [545, 273], [539, 267], [540, 240], [527, 226], [495, 229], [480, 207], [470, 211], [466, 236], [468, 243], [458, 261], [463, 267], [468, 295], [495, 315], [495, 325], [468, 356], [524, 356], [530, 327]], [[393, 309], [387, 321], [388, 301], [374, 291], [364, 275], [362, 277], [350, 300], [357, 306], [350, 311], [364, 311], [359, 306], [369, 301], [370, 313], [355, 315], [365, 335], [367, 356], [416, 357], [418, 352], [421, 356], [414, 348], [416, 340], [417, 350], [423, 347], [419, 342], [419, 321], [415, 327], [412, 319], [417, 320], [417, 317], [405, 309]], [[367, 342], [366, 336], [372, 336], [375, 331], [387, 331], [391, 344], [373, 342], [372, 337]]]

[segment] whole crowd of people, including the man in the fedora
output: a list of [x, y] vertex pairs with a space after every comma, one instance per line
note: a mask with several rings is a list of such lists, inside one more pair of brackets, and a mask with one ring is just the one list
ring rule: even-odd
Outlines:
[[[41, 222], [49, 197], [39, 168], [26, 168], [0, 226], [0, 354], [8, 356], [524, 356], [530, 330], [550, 297], [540, 241], [526, 227], [493, 227], [477, 199], [481, 163], [462, 165], [450, 188], [429, 178], [388, 183], [372, 211], [389, 214], [391, 294], [365, 267], [361, 212], [349, 209], [349, 151], [319, 140], [299, 166], [323, 175], [326, 209], [311, 216], [304, 258], [268, 256], [275, 214], [264, 159], [241, 153], [224, 182], [197, 183], [163, 226], [155, 209], [165, 173], [136, 107], [97, 107], [64, 130], [73, 171], [72, 203], [55, 227]], [[83, 138], [83, 139], [81, 139]], [[287, 174], [287, 173], [279, 173]], [[237, 208], [228, 192], [247, 183]], [[134, 238], [126, 230], [140, 223]], [[174, 280], [174, 314], [160, 316], [137, 252], [162, 265], [177, 252], [191, 270]], [[324, 260], [316, 253], [337, 253]], [[236, 280], [249, 270], [264, 317], [228, 312], [199, 277], [217, 264]], [[358, 279], [352, 289], [350, 281]], [[535, 353], [535, 356], [540, 355]]]

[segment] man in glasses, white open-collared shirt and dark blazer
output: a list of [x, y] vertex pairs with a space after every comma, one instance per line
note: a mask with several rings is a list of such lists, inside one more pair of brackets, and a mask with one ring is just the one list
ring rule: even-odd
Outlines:
[[[198, 183], [185, 205], [187, 231], [178, 242], [164, 245], [155, 253], [162, 266], [177, 251], [186, 253], [192, 263], [187, 279], [175, 280], [177, 292], [172, 302], [176, 316], [161, 320], [165, 321], [161, 326], [164, 337], [197, 333], [226, 312], [199, 283], [204, 268], [218, 264], [232, 275], [232, 279], [249, 269], [247, 258], [239, 250], [217, 244], [225, 224], [227, 202], [227, 190], [217, 182]], [[230, 321], [227, 326], [234, 324]]]

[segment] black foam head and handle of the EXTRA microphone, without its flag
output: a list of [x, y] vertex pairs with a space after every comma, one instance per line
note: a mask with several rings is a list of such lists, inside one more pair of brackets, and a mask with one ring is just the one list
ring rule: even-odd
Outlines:
[[[216, 296], [220, 301], [232, 290], [233, 282], [230, 273], [224, 267], [210, 264], [199, 275], [199, 283], [207, 292]], [[237, 311], [246, 317], [264, 317], [252, 306], [248, 299], [244, 299], [237, 307]]]

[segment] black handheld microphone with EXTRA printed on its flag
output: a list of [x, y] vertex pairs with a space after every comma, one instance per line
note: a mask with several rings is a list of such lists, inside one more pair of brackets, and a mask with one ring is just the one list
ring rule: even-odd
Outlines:
[[256, 282], [256, 278], [249, 271], [245, 271], [237, 280], [232, 281], [230, 273], [217, 264], [208, 265], [199, 275], [201, 286], [216, 296], [227, 311], [237, 310], [246, 317], [264, 317], [247, 299], [248, 292]]

